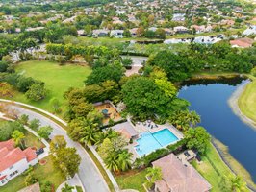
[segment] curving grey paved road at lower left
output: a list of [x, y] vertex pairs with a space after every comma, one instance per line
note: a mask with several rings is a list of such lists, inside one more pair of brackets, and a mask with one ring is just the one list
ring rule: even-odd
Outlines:
[[[1, 100], [0, 100], [1, 102]], [[46, 118], [45, 116], [38, 114], [29, 109], [21, 108], [18, 106], [12, 106], [16, 111], [20, 114], [27, 114], [31, 119], [39, 119], [41, 126], [51, 126], [53, 128], [53, 132], [50, 137], [54, 137], [55, 135], [63, 135], [68, 147], [74, 147], [77, 149], [77, 153], [81, 156], [82, 161], [80, 164], [80, 169], [78, 176], [82, 181], [82, 184], [86, 190], [86, 192], [107, 192], [109, 191], [108, 185], [106, 181], [103, 179], [100, 174], [98, 168], [95, 166], [94, 162], [90, 159], [90, 156], [85, 151], [85, 149], [77, 142], [72, 141], [64, 131], [64, 129], [56, 124], [54, 121]]]

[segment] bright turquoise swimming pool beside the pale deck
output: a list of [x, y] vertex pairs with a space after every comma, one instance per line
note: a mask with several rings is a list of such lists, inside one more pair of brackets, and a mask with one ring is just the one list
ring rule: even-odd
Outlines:
[[178, 138], [168, 129], [154, 133], [143, 132], [141, 133], [141, 138], [136, 140], [138, 145], [135, 146], [135, 150], [139, 156], [143, 156], [166, 147], [177, 140]]

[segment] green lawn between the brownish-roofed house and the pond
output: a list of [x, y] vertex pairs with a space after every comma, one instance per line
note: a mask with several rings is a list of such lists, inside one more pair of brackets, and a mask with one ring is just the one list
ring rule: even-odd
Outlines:
[[[202, 156], [202, 163], [192, 162], [194, 168], [212, 185], [212, 192], [219, 192], [218, 182], [221, 176], [232, 174], [226, 164], [220, 159], [214, 146], [210, 146], [207, 156]], [[213, 165], [214, 163], [214, 165]]]

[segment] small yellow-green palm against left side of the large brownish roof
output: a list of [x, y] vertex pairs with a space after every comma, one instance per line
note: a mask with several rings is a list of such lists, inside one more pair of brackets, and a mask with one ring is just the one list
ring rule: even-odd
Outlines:
[[162, 170], [160, 167], [149, 167], [147, 168], [147, 182], [146, 186], [152, 188], [154, 183], [158, 180], [162, 180]]

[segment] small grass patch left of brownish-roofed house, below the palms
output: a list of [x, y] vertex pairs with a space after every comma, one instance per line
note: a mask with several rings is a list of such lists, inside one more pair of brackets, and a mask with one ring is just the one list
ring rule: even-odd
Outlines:
[[146, 169], [142, 171], [131, 171], [124, 175], [115, 176], [115, 180], [121, 189], [136, 189], [140, 192], [145, 191], [142, 186], [145, 183]]

